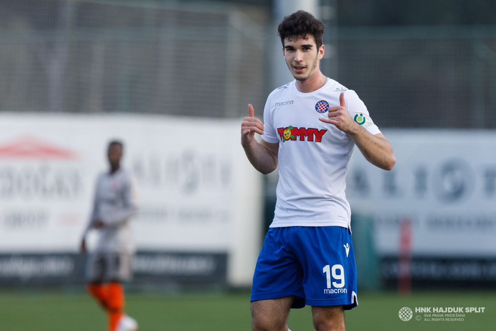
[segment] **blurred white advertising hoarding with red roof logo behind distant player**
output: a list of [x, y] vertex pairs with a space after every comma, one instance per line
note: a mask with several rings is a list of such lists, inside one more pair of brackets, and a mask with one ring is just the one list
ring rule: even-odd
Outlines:
[[262, 178], [240, 120], [2, 114], [0, 252], [75, 252], [111, 139], [138, 183], [138, 250], [228, 254], [228, 279], [251, 283]]

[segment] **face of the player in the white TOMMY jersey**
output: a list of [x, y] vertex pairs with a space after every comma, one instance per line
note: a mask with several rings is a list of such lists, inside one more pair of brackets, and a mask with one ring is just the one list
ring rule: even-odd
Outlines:
[[319, 70], [320, 59], [324, 56], [324, 45], [317, 48], [313, 37], [305, 40], [299, 37], [297, 40], [284, 40], [284, 59], [293, 77], [297, 80], [307, 80]]

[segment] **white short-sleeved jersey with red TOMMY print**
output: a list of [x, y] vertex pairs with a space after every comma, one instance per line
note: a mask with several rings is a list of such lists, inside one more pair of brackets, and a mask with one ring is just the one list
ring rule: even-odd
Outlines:
[[279, 182], [270, 227], [342, 226], [349, 228], [346, 171], [355, 143], [332, 124], [329, 107], [344, 92], [352, 119], [372, 134], [380, 133], [357, 93], [327, 78], [324, 86], [302, 93], [296, 80], [270, 93], [263, 112], [262, 139], [279, 143]]

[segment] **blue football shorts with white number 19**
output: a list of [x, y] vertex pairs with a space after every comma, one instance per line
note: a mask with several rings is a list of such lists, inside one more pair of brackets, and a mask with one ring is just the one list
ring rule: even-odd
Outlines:
[[341, 226], [270, 228], [253, 275], [250, 301], [296, 296], [291, 308], [358, 306], [351, 234]]

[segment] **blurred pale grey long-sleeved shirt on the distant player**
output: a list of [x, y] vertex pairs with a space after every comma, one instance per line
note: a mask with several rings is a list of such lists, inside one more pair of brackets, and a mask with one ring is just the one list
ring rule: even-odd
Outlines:
[[100, 238], [96, 252], [132, 254], [134, 243], [129, 220], [137, 211], [137, 193], [129, 172], [119, 169], [113, 174], [101, 173], [96, 182], [93, 212], [86, 229], [87, 232], [97, 219], [105, 224], [97, 229]]

